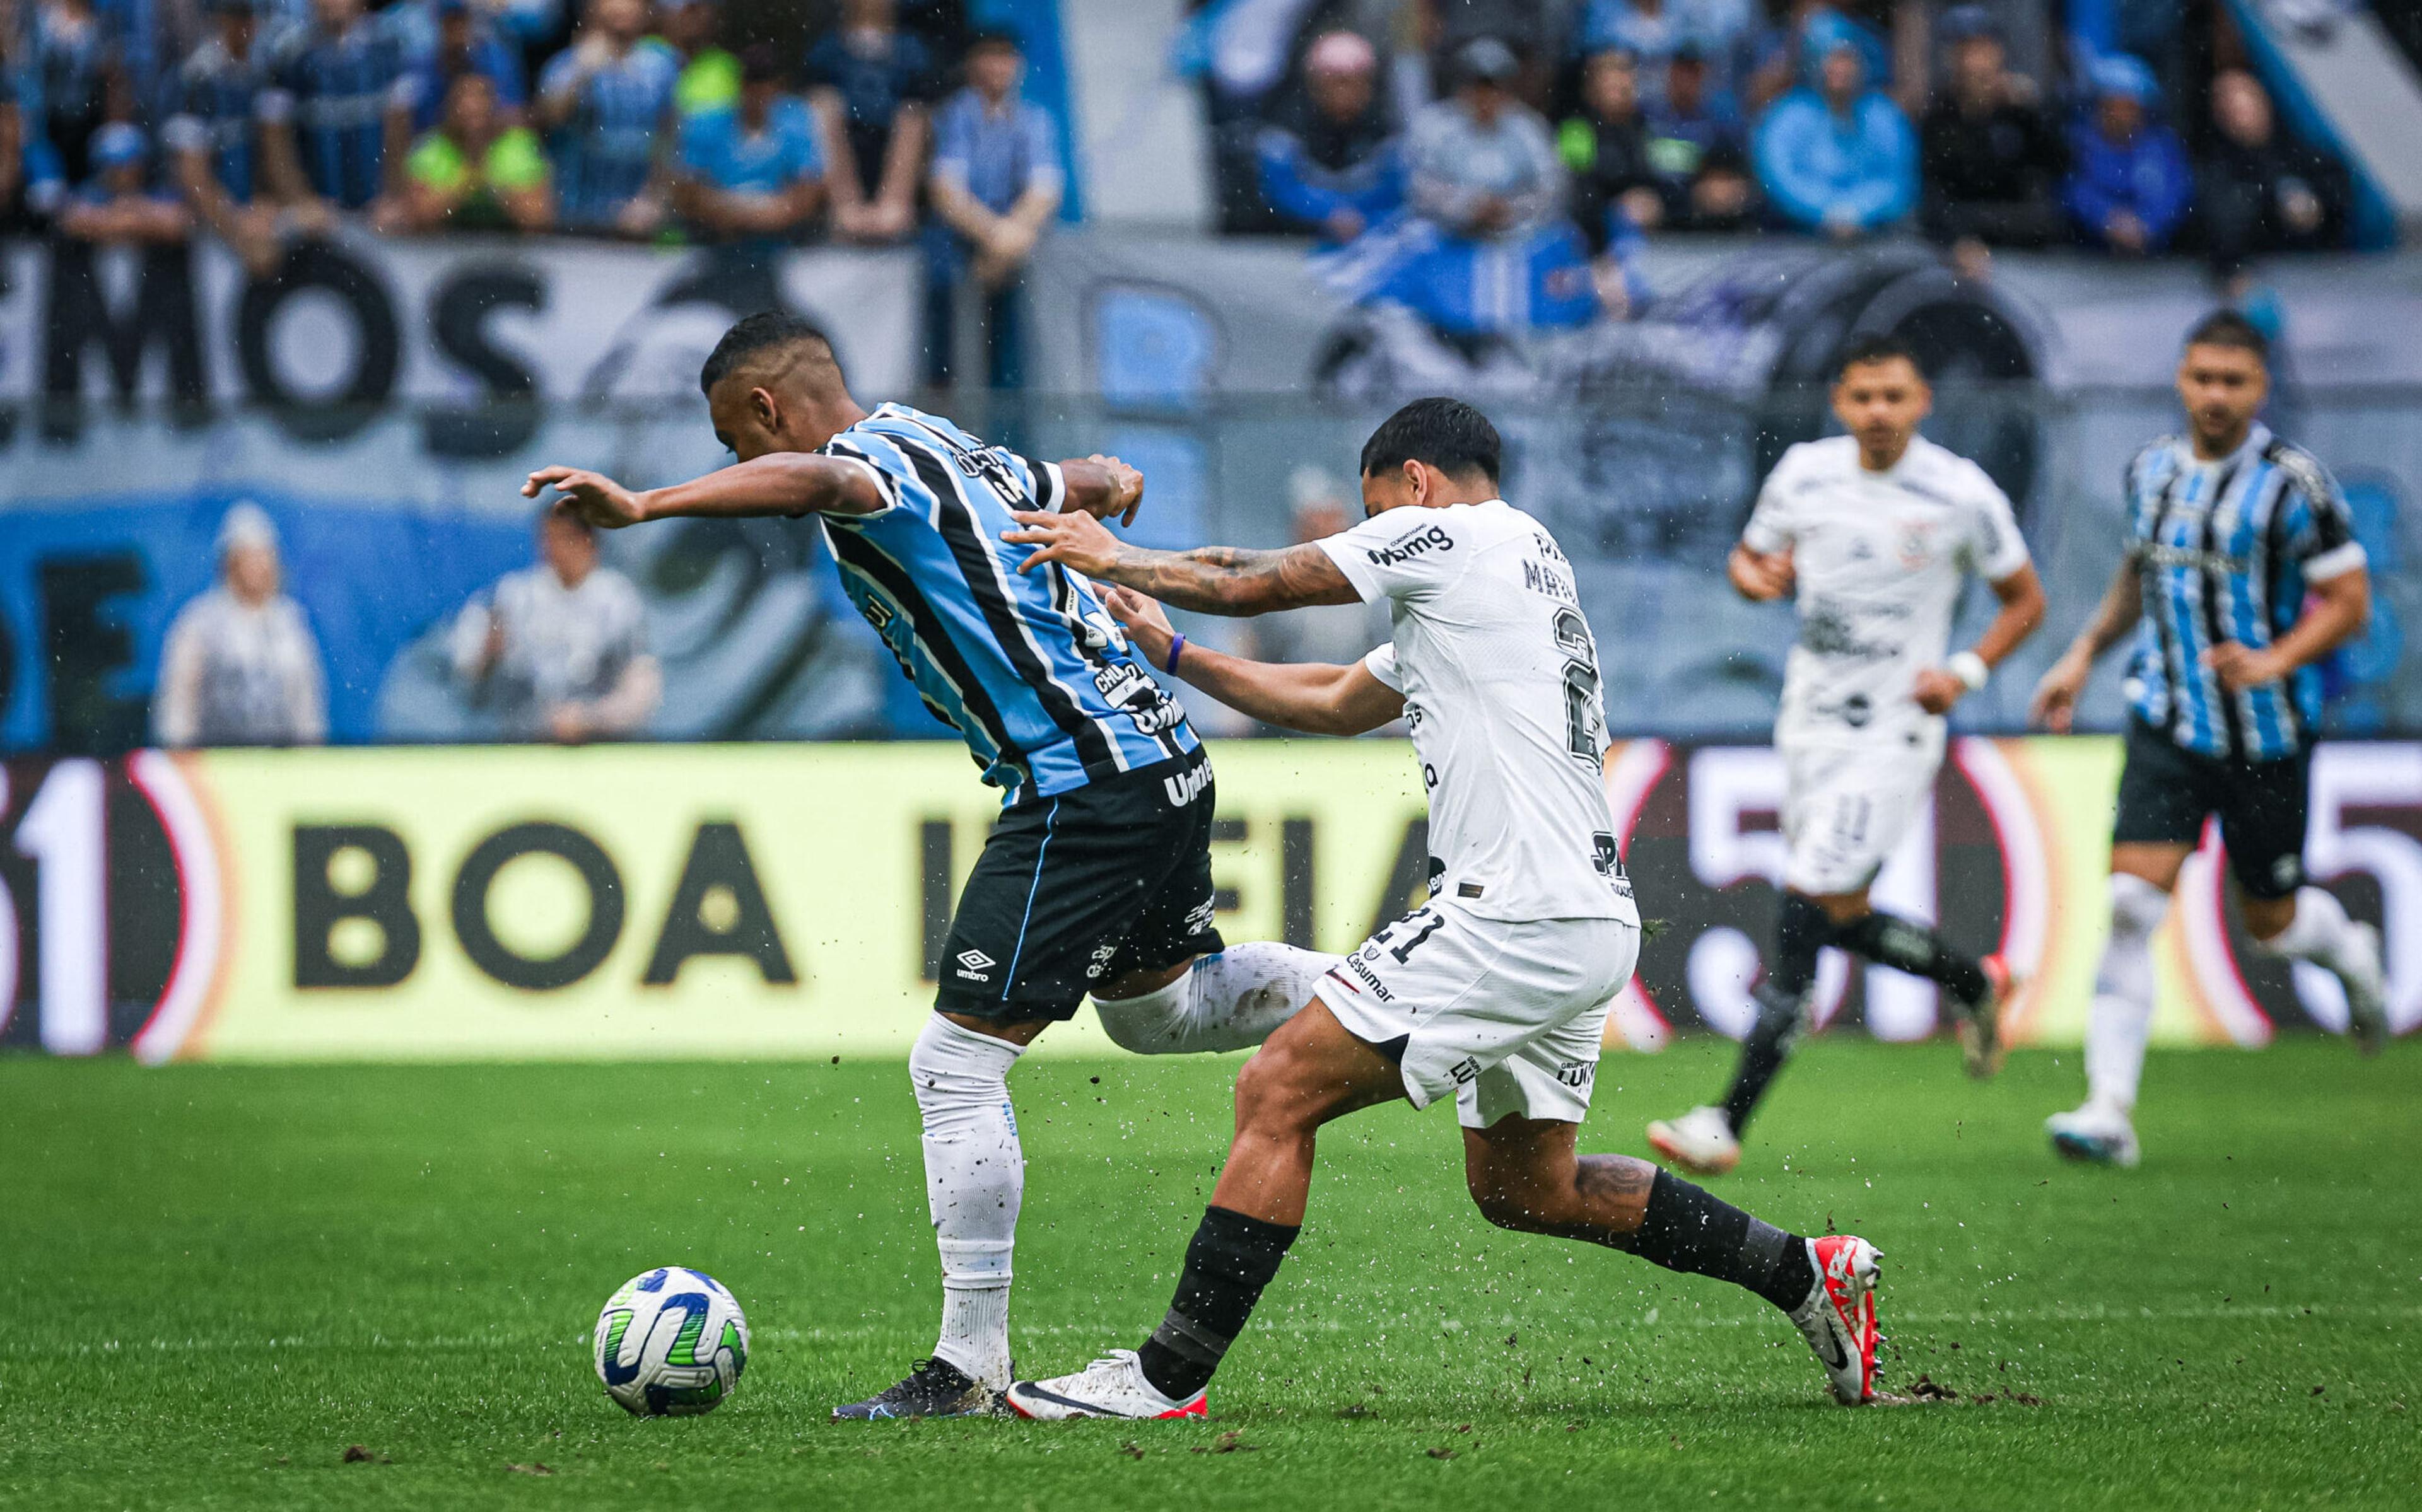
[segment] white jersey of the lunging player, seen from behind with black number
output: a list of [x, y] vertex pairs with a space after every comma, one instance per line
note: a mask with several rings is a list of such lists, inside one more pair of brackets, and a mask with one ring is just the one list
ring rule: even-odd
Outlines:
[[1405, 695], [1431, 897], [1480, 918], [1637, 923], [1599, 788], [1599, 647], [1548, 528], [1504, 499], [1407, 506], [1320, 550], [1388, 601], [1395, 640], [1366, 664]]

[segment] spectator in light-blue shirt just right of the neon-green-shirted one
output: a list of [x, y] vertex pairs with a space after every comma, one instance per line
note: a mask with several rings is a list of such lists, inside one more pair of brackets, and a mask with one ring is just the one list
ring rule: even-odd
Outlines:
[[647, 0], [589, 0], [581, 31], [538, 75], [538, 119], [552, 133], [557, 216], [569, 230], [654, 235], [659, 133], [681, 63], [642, 46]]

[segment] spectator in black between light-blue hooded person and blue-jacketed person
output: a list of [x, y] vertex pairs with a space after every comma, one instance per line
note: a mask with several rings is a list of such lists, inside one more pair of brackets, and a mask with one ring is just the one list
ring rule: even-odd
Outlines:
[[1959, 271], [1981, 276], [1988, 247], [2047, 247], [2061, 237], [2056, 191], [2068, 153], [2032, 85], [2010, 73], [2001, 29], [1981, 12], [1962, 12], [1976, 7], [1945, 17], [1952, 78], [1918, 133], [1921, 218]]

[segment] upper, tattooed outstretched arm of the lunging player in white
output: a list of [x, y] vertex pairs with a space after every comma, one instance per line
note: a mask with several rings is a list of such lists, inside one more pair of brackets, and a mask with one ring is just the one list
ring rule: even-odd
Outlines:
[[1061, 562], [1085, 577], [1196, 613], [1255, 615], [1310, 603], [1361, 603], [1361, 594], [1318, 545], [1286, 550], [1204, 545], [1189, 552], [1155, 552], [1119, 540], [1087, 514], [1032, 509], [1017, 511], [1017, 526], [1000, 538], [1041, 548], [1017, 565], [1020, 572]]

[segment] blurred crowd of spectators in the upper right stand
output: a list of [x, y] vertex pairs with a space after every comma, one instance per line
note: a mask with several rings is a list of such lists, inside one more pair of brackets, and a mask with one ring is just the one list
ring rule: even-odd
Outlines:
[[1259, 36], [1240, 19], [1201, 48], [1230, 233], [1412, 225], [1533, 262], [1569, 235], [1618, 313], [1661, 230], [1916, 230], [1972, 276], [1996, 247], [2192, 252], [2226, 276], [2349, 245], [2344, 165], [2282, 126], [2226, 5], [1247, 10]]

